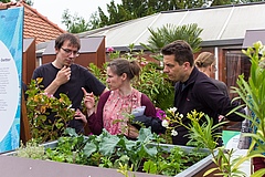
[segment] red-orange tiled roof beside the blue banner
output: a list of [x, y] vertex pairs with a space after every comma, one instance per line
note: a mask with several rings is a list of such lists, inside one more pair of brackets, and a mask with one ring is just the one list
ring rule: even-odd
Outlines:
[[23, 38], [35, 38], [36, 44], [54, 40], [57, 35], [65, 33], [57, 24], [51, 22], [46, 17], [28, 6], [24, 1], [11, 2], [11, 7], [24, 7]]

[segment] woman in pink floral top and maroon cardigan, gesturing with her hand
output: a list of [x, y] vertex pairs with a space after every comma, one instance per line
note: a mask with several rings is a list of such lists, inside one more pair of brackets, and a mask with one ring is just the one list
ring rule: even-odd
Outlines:
[[87, 108], [88, 127], [93, 134], [100, 134], [105, 128], [113, 135], [125, 134], [130, 138], [138, 136], [135, 126], [128, 123], [128, 116], [135, 110], [137, 114], [156, 117], [156, 107], [149, 97], [131, 86], [130, 81], [139, 76], [140, 66], [137, 61], [117, 59], [107, 65], [107, 84], [110, 91], [104, 93], [98, 101], [95, 113], [93, 93], [86, 93], [84, 103]]

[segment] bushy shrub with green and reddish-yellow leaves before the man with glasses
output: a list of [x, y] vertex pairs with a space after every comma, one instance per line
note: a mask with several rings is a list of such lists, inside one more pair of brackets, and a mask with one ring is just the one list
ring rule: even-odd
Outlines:
[[[73, 118], [71, 101], [67, 95], [60, 94], [60, 98], [44, 93], [40, 85], [42, 79], [32, 80], [26, 91], [26, 113], [30, 122], [32, 138], [40, 143], [57, 139], [66, 128], [68, 121]], [[54, 113], [52, 122], [47, 116]]]

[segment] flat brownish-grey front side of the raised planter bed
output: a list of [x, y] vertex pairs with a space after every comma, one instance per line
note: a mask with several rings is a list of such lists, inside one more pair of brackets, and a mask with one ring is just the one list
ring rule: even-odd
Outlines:
[[[0, 155], [3, 177], [124, 177], [116, 169]], [[135, 173], [136, 177], [160, 177]]]

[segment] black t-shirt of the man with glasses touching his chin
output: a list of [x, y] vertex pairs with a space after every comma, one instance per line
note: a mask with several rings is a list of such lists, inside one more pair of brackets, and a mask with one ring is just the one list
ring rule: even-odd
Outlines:
[[[33, 72], [32, 79], [42, 77], [42, 85], [46, 88], [53, 80], [56, 77], [60, 69], [55, 67], [52, 63], [43, 64], [35, 69]], [[83, 100], [83, 91], [93, 92], [94, 95], [100, 95], [105, 90], [105, 85], [99, 82], [86, 67], [72, 64], [71, 65], [71, 79], [67, 83], [61, 85], [53, 96], [60, 97], [60, 93], [64, 93], [72, 101], [72, 108], [81, 108], [81, 103]], [[54, 115], [49, 116], [50, 119], [54, 119]], [[74, 127], [76, 132], [80, 132], [80, 128], [83, 128], [83, 123], [81, 121], [71, 121], [71, 127]]]

